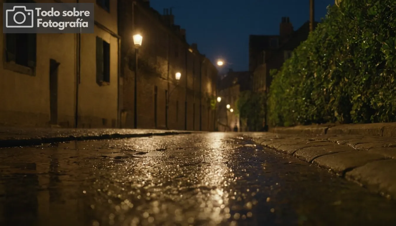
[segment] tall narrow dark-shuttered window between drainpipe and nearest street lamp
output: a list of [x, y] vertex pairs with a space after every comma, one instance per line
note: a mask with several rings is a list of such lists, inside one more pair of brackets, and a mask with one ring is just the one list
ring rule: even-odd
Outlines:
[[110, 83], [110, 44], [96, 37], [96, 82]]

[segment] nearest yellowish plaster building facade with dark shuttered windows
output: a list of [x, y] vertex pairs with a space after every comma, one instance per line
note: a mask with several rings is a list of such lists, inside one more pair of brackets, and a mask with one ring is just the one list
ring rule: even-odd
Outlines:
[[95, 3], [95, 32], [0, 36], [0, 125], [117, 127], [117, 1], [64, 2]]

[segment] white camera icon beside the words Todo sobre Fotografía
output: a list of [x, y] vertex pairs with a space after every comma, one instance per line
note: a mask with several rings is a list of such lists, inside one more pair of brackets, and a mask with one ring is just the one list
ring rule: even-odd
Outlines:
[[[22, 15], [23, 19], [22, 20], [17, 19], [17, 15]], [[26, 6], [14, 6], [13, 9], [7, 9], [6, 27], [10, 27], [10, 28], [33, 27], [33, 9], [26, 9]]]

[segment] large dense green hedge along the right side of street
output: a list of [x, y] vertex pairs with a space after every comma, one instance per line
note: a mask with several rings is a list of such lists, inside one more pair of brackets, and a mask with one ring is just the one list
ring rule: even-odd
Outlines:
[[273, 73], [270, 125], [396, 120], [396, 1], [343, 0]]

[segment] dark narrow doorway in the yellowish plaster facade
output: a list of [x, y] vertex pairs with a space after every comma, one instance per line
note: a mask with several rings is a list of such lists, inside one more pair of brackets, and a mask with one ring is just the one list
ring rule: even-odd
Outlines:
[[49, 114], [50, 124], [58, 124], [58, 67], [60, 63], [49, 60]]

